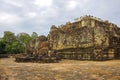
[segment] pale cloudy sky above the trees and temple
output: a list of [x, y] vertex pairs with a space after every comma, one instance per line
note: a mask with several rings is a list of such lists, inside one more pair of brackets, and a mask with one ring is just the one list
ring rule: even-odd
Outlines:
[[0, 37], [4, 31], [47, 35], [51, 25], [93, 15], [120, 26], [120, 0], [0, 0]]

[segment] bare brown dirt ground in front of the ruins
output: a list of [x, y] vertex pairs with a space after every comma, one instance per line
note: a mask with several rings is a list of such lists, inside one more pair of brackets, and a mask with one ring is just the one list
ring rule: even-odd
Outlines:
[[16, 63], [0, 59], [0, 80], [120, 80], [120, 60]]

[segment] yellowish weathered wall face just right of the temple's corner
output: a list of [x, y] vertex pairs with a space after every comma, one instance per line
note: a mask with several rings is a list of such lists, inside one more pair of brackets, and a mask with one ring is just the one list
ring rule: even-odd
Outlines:
[[106, 30], [104, 26], [94, 27], [94, 47], [106, 48], [109, 46], [109, 34]]

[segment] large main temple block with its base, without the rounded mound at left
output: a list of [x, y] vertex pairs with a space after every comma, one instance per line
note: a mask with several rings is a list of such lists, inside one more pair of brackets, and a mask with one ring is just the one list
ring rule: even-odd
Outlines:
[[120, 28], [93, 16], [50, 29], [50, 48], [66, 59], [106, 59], [120, 57]]

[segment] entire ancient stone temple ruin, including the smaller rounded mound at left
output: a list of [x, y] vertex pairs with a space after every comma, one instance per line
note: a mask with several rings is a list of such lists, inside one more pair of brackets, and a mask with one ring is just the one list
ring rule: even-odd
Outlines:
[[83, 16], [72, 23], [52, 25], [47, 37], [40, 36], [29, 42], [26, 53], [24, 60], [43, 62], [120, 58], [120, 28], [100, 18]]

